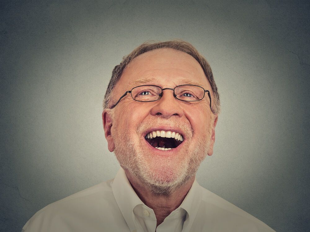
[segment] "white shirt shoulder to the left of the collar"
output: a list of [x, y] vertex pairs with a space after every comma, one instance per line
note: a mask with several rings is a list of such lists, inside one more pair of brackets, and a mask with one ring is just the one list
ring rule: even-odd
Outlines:
[[112, 182], [100, 183], [47, 205], [29, 219], [23, 230], [86, 231], [113, 220], [113, 214], [122, 218], [113, 196]]

